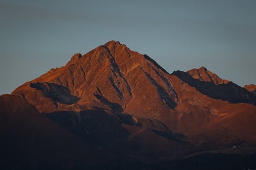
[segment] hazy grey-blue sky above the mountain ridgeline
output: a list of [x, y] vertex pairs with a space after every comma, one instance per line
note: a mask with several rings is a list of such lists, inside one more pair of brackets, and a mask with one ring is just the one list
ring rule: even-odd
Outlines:
[[256, 84], [256, 1], [0, 0], [0, 95], [110, 40], [169, 73]]

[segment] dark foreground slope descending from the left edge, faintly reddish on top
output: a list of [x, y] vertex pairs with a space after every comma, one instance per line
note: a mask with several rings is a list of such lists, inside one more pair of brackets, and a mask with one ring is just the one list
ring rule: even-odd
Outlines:
[[88, 157], [88, 165], [96, 160], [96, 150], [18, 96], [0, 96], [0, 135], [2, 168], [75, 167], [81, 157]]

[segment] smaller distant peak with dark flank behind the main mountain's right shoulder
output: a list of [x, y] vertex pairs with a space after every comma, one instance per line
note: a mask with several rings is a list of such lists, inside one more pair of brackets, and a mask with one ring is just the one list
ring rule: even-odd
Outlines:
[[[199, 73], [199, 74], [195, 74]], [[213, 99], [221, 99], [230, 103], [249, 103], [256, 105], [255, 96], [233, 82], [220, 79], [205, 67], [191, 69], [187, 72], [174, 71], [172, 75], [178, 76], [182, 81], [195, 87], [201, 93]], [[203, 78], [201, 78], [203, 77]]]

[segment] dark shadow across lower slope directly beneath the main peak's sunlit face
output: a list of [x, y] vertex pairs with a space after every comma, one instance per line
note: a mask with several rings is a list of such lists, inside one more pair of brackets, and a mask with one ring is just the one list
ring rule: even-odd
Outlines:
[[156, 119], [111, 114], [103, 110], [58, 111], [45, 115], [91, 147], [101, 148], [116, 158], [125, 155], [137, 155], [143, 159], [147, 159], [147, 155], [176, 158], [195, 149], [186, 136], [173, 133]]

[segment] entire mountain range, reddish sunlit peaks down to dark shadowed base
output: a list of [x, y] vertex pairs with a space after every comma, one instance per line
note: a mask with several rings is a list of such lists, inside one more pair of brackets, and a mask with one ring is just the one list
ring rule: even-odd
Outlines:
[[205, 67], [169, 74], [110, 41], [0, 96], [2, 164], [256, 168], [255, 90]]

